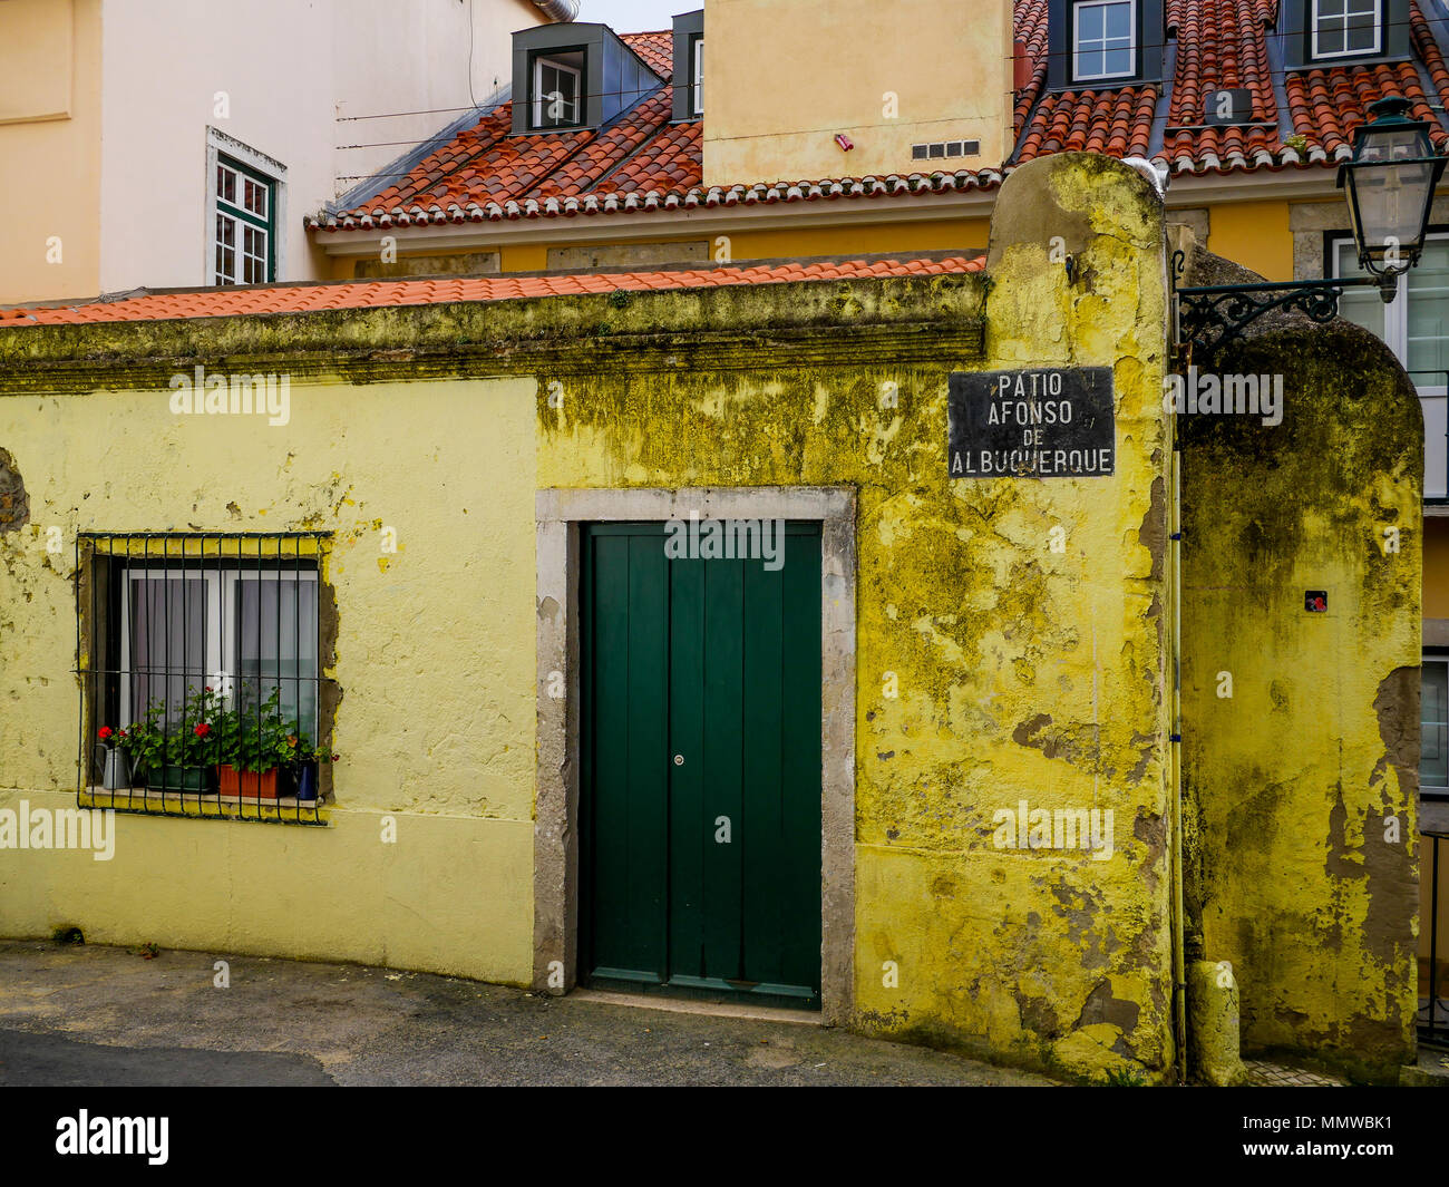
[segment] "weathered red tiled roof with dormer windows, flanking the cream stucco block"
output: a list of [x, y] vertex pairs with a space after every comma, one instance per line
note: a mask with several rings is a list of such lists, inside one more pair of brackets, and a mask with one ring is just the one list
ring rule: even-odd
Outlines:
[[[1171, 88], [1148, 83], [1052, 94], [1046, 90], [1048, 0], [1016, 0], [1016, 41], [1026, 58], [1019, 77], [1026, 83], [1014, 96], [1013, 157], [995, 168], [706, 188], [700, 123], [671, 122], [672, 99], [665, 87], [598, 130], [510, 136], [511, 109], [506, 103], [429, 154], [398, 184], [349, 210], [309, 219], [309, 226], [378, 230], [966, 193], [1000, 186], [1019, 161], [1068, 149], [1151, 157], [1174, 174], [1324, 167], [1349, 154], [1353, 128], [1385, 91], [1410, 99], [1417, 117], [1440, 125], [1429, 104], [1449, 101], [1449, 67], [1417, 3], [1410, 6], [1414, 61], [1290, 71], [1282, 80], [1287, 110], [1274, 88], [1268, 49], [1278, 4], [1166, 0], [1166, 30], [1175, 45]], [[671, 75], [669, 32], [627, 33], [623, 41], [661, 77]], [[1435, 94], [1424, 93], [1420, 65]], [[1252, 93], [1250, 125], [1259, 126], [1204, 128], [1208, 93], [1229, 88]], [[1303, 142], [1295, 139], [1300, 135]], [[1440, 133], [1436, 139], [1446, 138]]]

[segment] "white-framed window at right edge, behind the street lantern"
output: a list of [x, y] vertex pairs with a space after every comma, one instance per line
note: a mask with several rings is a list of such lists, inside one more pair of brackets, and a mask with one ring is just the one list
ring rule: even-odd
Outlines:
[[[1329, 272], [1364, 275], [1352, 236], [1332, 241]], [[1346, 288], [1339, 315], [1382, 338], [1408, 371], [1424, 413], [1424, 499], [1449, 499], [1449, 233], [1424, 236], [1391, 304], [1375, 287]]]

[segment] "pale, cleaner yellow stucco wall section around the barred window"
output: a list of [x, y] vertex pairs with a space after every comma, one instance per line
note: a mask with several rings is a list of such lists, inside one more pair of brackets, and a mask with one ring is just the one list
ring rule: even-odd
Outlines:
[[109, 862], [7, 849], [0, 933], [529, 980], [533, 388], [294, 383], [284, 426], [178, 419], [165, 375], [0, 399], [30, 500], [0, 535], [0, 807], [74, 804], [78, 529], [335, 532], [342, 688], [333, 828], [123, 816]]

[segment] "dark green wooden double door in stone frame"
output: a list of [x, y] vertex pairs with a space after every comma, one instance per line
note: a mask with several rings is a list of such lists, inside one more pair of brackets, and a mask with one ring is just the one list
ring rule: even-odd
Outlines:
[[580, 972], [820, 997], [820, 528], [784, 564], [582, 533]]

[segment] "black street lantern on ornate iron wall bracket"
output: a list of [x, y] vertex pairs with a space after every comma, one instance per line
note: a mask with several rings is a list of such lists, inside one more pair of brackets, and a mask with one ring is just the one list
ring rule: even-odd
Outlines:
[[[1179, 345], [1216, 346], [1272, 309], [1297, 309], [1314, 322], [1329, 322], [1339, 313], [1345, 288], [1375, 284], [1385, 304], [1394, 300], [1398, 277], [1423, 252], [1429, 209], [1446, 159], [1435, 152], [1430, 125], [1408, 119], [1407, 112], [1406, 99], [1374, 103], [1369, 107], [1374, 119], [1353, 136], [1353, 159], [1339, 165], [1339, 188], [1348, 190], [1359, 267], [1368, 275], [1178, 288]], [[1181, 275], [1182, 265], [1182, 252], [1174, 252], [1174, 277]]]

